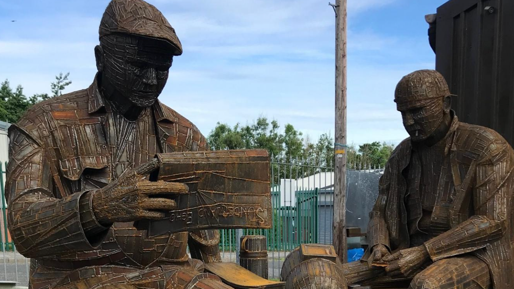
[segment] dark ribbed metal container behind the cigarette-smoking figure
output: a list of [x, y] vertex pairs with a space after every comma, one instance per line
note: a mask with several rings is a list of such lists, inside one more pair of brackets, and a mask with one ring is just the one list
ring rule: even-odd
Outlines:
[[451, 0], [427, 15], [436, 70], [456, 94], [463, 122], [499, 132], [514, 144], [514, 1]]

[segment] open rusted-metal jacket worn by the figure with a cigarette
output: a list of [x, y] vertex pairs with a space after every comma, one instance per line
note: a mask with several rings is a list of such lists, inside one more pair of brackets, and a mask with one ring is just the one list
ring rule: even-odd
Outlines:
[[[450, 228], [424, 243], [432, 261], [473, 254], [487, 263], [494, 288], [514, 288], [514, 151], [497, 132], [453, 117], [444, 165], [430, 218], [432, 228]], [[394, 150], [379, 182], [368, 239], [391, 250], [410, 247], [407, 216], [421, 218], [421, 204], [406, 206], [411, 141]], [[418, 176], [419, 177], [419, 176]], [[408, 212], [409, 211], [409, 212]]]

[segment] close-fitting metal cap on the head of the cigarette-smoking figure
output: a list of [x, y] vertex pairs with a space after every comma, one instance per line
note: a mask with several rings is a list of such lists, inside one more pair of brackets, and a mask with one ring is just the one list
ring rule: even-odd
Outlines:
[[435, 70], [416, 70], [404, 76], [396, 85], [394, 101], [399, 108], [413, 101], [427, 101], [449, 96], [450, 89], [445, 78]]

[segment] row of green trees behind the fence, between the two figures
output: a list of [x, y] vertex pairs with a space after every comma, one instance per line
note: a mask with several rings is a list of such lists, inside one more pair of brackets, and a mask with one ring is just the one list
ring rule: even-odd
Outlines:
[[[316, 142], [305, 138], [292, 124], [286, 124], [283, 132], [276, 120], [268, 121], [259, 117], [252, 124], [243, 127], [240, 124], [230, 127], [226, 123], [217, 123], [209, 134], [207, 141], [214, 149], [266, 149], [274, 160], [286, 164], [303, 164], [302, 168], [292, 166], [284, 173], [284, 168], [275, 170], [278, 177], [304, 176], [333, 168], [335, 162], [334, 139], [329, 134], [322, 134]], [[394, 147], [386, 142], [374, 141], [345, 148], [347, 167], [363, 170], [383, 168]], [[321, 168], [321, 169], [320, 169]], [[286, 176], [287, 175], [287, 176]], [[290, 175], [290, 176], [289, 176]]]

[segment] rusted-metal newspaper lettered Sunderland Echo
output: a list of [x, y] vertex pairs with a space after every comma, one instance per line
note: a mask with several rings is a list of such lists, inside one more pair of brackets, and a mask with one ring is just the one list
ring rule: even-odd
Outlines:
[[266, 150], [180, 152], [157, 155], [158, 180], [188, 185], [176, 209], [152, 221], [150, 237], [204, 228], [271, 227]]

